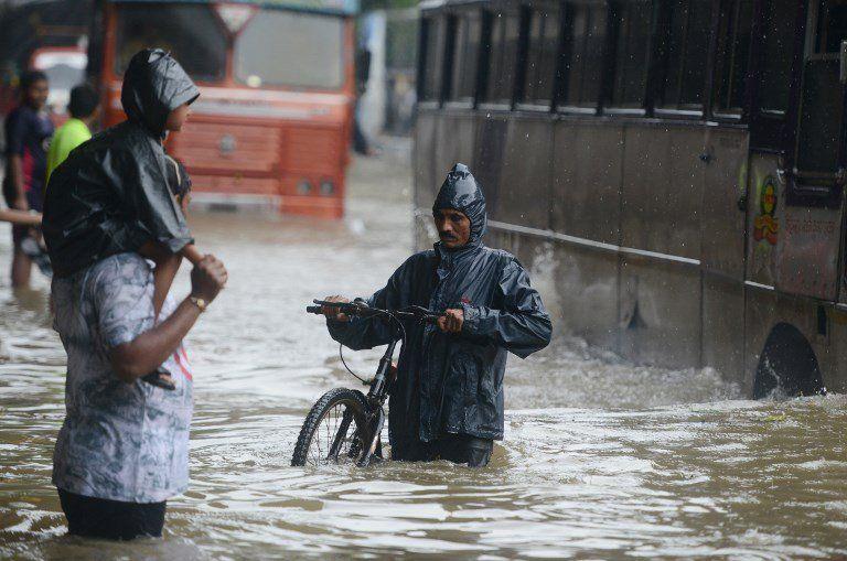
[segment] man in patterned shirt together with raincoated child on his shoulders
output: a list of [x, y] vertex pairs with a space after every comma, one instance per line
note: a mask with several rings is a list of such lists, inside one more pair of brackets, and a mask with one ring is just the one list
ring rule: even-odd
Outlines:
[[165, 299], [193, 240], [184, 170], [172, 173], [162, 142], [199, 95], [170, 55], [138, 53], [124, 78], [128, 119], [73, 150], [46, 190], [54, 326], [67, 352], [53, 483], [71, 533], [160, 536], [167, 499], [187, 486], [192, 376], [182, 339], [227, 273], [213, 256], [186, 255], [191, 293]]

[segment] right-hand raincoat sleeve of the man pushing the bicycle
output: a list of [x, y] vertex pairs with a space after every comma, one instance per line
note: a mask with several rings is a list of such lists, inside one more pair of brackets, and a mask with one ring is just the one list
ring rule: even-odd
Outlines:
[[502, 296], [502, 310], [462, 304], [462, 333], [494, 343], [521, 358], [546, 347], [553, 328], [550, 316], [515, 259], [503, 268], [496, 290]]

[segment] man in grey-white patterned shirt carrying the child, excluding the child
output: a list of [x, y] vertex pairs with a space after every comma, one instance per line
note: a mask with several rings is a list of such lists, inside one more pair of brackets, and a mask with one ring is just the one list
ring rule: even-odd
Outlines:
[[[187, 212], [191, 180], [168, 158], [174, 204]], [[65, 421], [53, 483], [68, 532], [128, 540], [159, 537], [168, 498], [189, 483], [193, 377], [183, 337], [226, 283], [206, 256], [179, 305], [153, 310], [153, 273], [139, 253], [118, 253], [53, 281], [54, 327], [67, 352]], [[142, 384], [154, 368], [170, 388]]]

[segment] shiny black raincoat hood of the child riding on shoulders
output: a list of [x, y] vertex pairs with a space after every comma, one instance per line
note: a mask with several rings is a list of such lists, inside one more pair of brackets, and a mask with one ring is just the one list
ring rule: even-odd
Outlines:
[[129, 120], [162, 136], [168, 115], [199, 96], [197, 86], [175, 58], [161, 48], [144, 48], [132, 56], [124, 74], [120, 103]]

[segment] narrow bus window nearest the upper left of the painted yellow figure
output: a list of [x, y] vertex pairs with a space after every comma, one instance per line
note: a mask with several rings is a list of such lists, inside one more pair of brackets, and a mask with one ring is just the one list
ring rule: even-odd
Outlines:
[[740, 115], [744, 105], [752, 19], [752, 0], [733, 0], [721, 6], [715, 73], [714, 111], [717, 114]]

